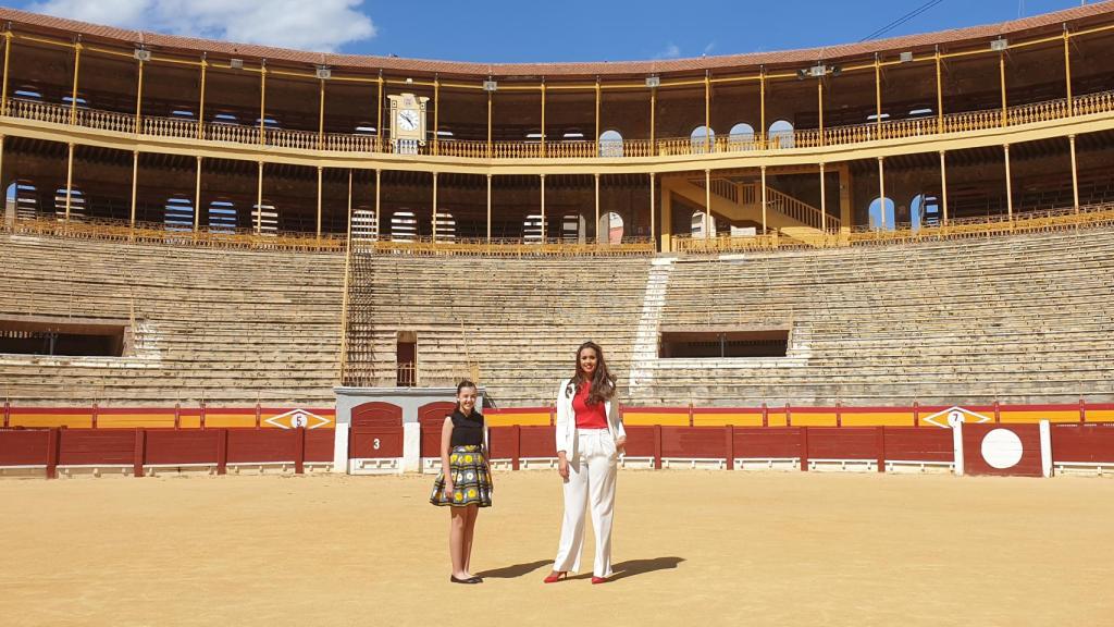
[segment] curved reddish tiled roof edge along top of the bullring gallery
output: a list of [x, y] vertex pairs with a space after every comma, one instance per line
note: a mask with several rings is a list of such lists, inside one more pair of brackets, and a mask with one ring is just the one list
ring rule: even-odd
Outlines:
[[403, 59], [397, 57], [380, 57], [371, 55], [336, 55], [325, 52], [306, 52], [256, 46], [253, 44], [234, 44], [193, 37], [179, 37], [138, 30], [126, 30], [107, 26], [91, 25], [76, 20], [42, 16], [16, 9], [0, 7], [0, 20], [12, 22], [13, 30], [23, 27], [35, 29], [52, 29], [69, 36], [80, 35], [85, 39], [109, 39], [121, 45], [143, 44], [155, 50], [175, 51], [185, 55], [207, 52], [216, 57], [265, 58], [271, 61], [291, 64], [328, 65], [334, 68], [356, 70], [379, 70], [399, 75], [467, 75], [494, 76], [496, 78], [532, 76], [532, 77], [595, 77], [622, 75], [648, 75], [670, 73], [703, 73], [704, 70], [756, 68], [761, 65], [802, 65], [818, 60], [847, 59], [868, 57], [876, 52], [895, 52], [900, 50], [924, 50], [935, 46], [956, 48], [965, 42], [986, 41], [999, 36], [1024, 36], [1037, 31], [1054, 31], [1062, 23], [1095, 23], [1108, 21], [1114, 16], [1114, 0], [1095, 2], [1052, 13], [1030, 18], [1012, 20], [995, 25], [975, 26], [954, 30], [944, 30], [924, 35], [909, 35], [890, 39], [879, 39], [861, 44], [846, 44], [825, 48], [809, 48], [800, 50], [782, 50], [773, 52], [751, 52], [745, 55], [724, 55], [688, 59], [662, 59], [645, 61], [592, 61], [592, 62], [555, 62], [555, 64], [476, 64], [462, 61], [440, 61], [431, 59]]

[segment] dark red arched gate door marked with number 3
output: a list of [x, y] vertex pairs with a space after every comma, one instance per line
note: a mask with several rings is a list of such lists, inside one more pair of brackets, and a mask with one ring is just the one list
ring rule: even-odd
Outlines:
[[402, 446], [402, 407], [373, 402], [352, 408], [350, 474], [400, 472]]

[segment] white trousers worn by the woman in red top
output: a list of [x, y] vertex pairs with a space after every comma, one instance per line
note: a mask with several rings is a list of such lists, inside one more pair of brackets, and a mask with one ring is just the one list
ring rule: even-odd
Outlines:
[[568, 461], [565, 482], [565, 520], [554, 570], [580, 570], [584, 549], [584, 510], [592, 502], [596, 532], [595, 577], [612, 576], [612, 513], [615, 509], [615, 471], [618, 454], [606, 428], [577, 430], [577, 454]]

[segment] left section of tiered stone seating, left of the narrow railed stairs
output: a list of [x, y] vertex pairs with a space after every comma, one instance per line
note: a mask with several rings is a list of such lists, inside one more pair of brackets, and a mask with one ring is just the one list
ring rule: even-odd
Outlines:
[[0, 316], [134, 320], [124, 357], [0, 356], [21, 405], [331, 405], [342, 254], [0, 235]]

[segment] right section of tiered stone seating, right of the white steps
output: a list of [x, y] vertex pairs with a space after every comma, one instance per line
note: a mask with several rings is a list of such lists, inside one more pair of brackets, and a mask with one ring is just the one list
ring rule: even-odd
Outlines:
[[678, 262], [665, 326], [791, 329], [781, 358], [664, 360], [636, 401], [1114, 398], [1114, 231]]

